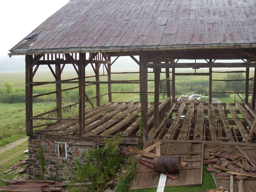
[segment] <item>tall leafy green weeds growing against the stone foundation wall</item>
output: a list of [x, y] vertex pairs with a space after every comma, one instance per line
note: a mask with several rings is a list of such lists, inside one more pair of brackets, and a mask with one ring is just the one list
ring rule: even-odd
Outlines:
[[84, 163], [78, 159], [75, 160], [76, 180], [88, 183], [87, 191], [103, 191], [107, 182], [117, 174], [124, 160], [124, 156], [119, 153], [120, 140], [120, 135], [110, 139], [105, 138], [104, 147], [90, 149], [82, 154]]

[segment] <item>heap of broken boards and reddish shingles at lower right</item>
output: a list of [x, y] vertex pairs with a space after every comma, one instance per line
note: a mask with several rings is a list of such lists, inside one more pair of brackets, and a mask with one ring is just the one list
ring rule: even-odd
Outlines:
[[[246, 148], [248, 150], [249, 147]], [[250, 159], [244, 152], [242, 147], [234, 146], [219, 146], [214, 149], [205, 149], [204, 158], [211, 161], [210, 168], [207, 171], [215, 172], [218, 177], [230, 177], [230, 191], [233, 192], [233, 182], [237, 182], [239, 192], [243, 191], [243, 181], [245, 179], [256, 179], [255, 160]]]

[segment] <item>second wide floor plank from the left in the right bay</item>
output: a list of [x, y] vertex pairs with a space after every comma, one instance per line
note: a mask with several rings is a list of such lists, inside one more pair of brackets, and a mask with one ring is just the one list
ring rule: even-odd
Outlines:
[[184, 118], [184, 121], [182, 123], [181, 131], [180, 131], [180, 134], [179, 134], [177, 140], [186, 140], [187, 139], [187, 135], [189, 134], [188, 130], [191, 126], [191, 119], [193, 117], [193, 114], [194, 114], [194, 103], [191, 103], [188, 106], [188, 110], [187, 110], [186, 116]]

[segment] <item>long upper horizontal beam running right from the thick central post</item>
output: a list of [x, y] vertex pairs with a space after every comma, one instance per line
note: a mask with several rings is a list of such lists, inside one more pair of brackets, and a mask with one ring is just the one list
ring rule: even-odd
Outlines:
[[256, 63], [149, 63], [149, 68], [219, 68], [256, 67]]

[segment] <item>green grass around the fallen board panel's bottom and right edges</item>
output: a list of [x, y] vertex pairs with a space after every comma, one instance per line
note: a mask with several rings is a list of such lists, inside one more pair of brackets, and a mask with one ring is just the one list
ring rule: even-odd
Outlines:
[[[203, 190], [216, 189], [215, 182], [213, 180], [211, 172], [208, 172], [206, 168], [208, 165], [203, 165], [203, 175], [202, 175], [202, 185], [197, 186], [174, 186], [174, 187], [165, 187], [164, 192], [201, 192]], [[153, 189], [138, 189], [130, 190], [136, 192], [156, 192], [156, 188]]]

